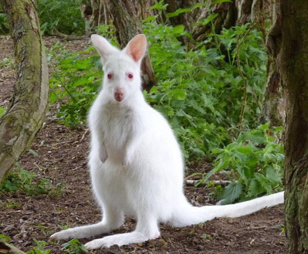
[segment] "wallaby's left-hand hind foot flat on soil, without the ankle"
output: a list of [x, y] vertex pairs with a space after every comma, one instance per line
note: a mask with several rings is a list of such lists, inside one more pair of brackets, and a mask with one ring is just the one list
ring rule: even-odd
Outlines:
[[50, 237], [49, 241], [87, 238], [109, 232], [111, 232], [111, 229], [107, 228], [102, 222], [100, 222], [93, 225], [74, 227], [56, 232]]

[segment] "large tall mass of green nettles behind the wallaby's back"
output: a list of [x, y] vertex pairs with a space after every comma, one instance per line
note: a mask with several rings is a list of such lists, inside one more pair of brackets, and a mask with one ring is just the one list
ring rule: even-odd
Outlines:
[[185, 158], [211, 157], [242, 129], [255, 128], [265, 83], [262, 35], [246, 24], [212, 34], [194, 50], [177, 40], [182, 25], [145, 23], [159, 80], [145, 94], [175, 130]]

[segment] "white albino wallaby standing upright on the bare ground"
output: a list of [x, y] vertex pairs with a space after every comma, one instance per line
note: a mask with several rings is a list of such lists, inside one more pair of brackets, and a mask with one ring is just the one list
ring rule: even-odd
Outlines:
[[183, 192], [183, 159], [177, 139], [141, 91], [145, 35], [133, 37], [123, 50], [100, 35], [92, 35], [91, 40], [104, 69], [103, 88], [89, 114], [89, 166], [103, 219], [54, 233], [51, 239], [106, 234], [119, 228], [126, 214], [137, 219], [134, 231], [93, 240], [86, 248], [141, 243], [160, 236], [160, 222], [184, 227], [216, 217], [240, 217], [283, 203], [283, 192], [279, 192], [233, 205], [189, 204]]

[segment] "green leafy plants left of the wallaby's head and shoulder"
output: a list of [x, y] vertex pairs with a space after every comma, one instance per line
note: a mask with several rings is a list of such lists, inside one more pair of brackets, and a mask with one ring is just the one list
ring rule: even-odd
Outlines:
[[92, 49], [66, 55], [56, 64], [57, 69], [53, 65], [54, 72], [49, 79], [49, 101], [51, 104], [61, 103], [57, 115], [65, 125], [76, 127], [85, 122], [101, 86], [99, 57], [88, 54]]

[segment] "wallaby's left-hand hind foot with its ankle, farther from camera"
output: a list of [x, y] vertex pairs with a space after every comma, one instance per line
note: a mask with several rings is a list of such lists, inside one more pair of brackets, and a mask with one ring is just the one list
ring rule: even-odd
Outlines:
[[124, 215], [122, 211], [111, 207], [104, 209], [103, 220], [99, 223], [86, 225], [81, 227], [73, 227], [60, 232], [54, 233], [50, 240], [62, 240], [72, 238], [87, 238], [103, 233], [109, 233], [114, 229], [121, 227], [124, 223]]

